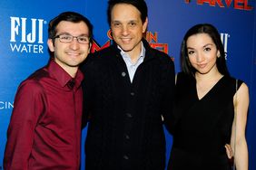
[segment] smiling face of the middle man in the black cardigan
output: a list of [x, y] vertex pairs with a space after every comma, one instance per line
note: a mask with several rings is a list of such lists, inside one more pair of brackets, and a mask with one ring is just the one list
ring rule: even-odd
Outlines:
[[139, 10], [133, 5], [117, 4], [111, 13], [113, 40], [130, 56], [139, 55], [141, 40], [148, 21], [143, 23]]

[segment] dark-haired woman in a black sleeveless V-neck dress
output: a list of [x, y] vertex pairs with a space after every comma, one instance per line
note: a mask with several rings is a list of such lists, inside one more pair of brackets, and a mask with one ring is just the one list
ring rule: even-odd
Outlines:
[[224, 147], [231, 144], [236, 169], [247, 170], [249, 91], [230, 76], [220, 34], [212, 24], [197, 24], [185, 34], [181, 64], [168, 169], [231, 169]]

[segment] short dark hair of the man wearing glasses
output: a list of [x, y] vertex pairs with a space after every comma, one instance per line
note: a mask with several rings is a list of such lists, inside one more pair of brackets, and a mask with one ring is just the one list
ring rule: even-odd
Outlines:
[[84, 22], [89, 29], [89, 37], [90, 41], [92, 41], [93, 37], [93, 24], [82, 14], [78, 14], [75, 12], [64, 12], [62, 14], [59, 14], [58, 16], [54, 17], [48, 25], [48, 38], [53, 39], [54, 36], [56, 35], [56, 27], [57, 25], [62, 22], [62, 21], [67, 21], [67, 22], [72, 22], [72, 23], [79, 23], [79, 22]]

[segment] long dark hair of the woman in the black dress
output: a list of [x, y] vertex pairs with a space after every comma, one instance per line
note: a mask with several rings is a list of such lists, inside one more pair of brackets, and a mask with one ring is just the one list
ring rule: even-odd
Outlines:
[[187, 33], [185, 33], [184, 38], [182, 40], [182, 47], [181, 47], [181, 66], [182, 71], [194, 76], [195, 69], [192, 67], [191, 62], [189, 61], [188, 57], [188, 50], [187, 50], [187, 40], [194, 34], [198, 33], [207, 33], [211, 38], [212, 41], [215, 43], [217, 50], [219, 50], [221, 56], [217, 58], [216, 65], [218, 71], [221, 72], [222, 75], [230, 76], [230, 73], [227, 68], [226, 58], [224, 47], [222, 44], [221, 35], [218, 30], [212, 24], [196, 24], [190, 28]]

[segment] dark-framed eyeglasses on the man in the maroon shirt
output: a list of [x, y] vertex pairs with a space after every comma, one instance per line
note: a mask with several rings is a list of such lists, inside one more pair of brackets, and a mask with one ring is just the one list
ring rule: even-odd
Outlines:
[[73, 42], [73, 39], [76, 38], [77, 42], [81, 44], [88, 44], [90, 42], [90, 38], [87, 36], [73, 36], [68, 34], [60, 34], [54, 36], [54, 39], [58, 38], [60, 42], [69, 43]]

